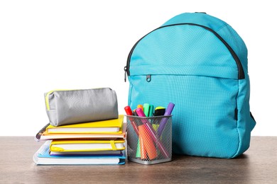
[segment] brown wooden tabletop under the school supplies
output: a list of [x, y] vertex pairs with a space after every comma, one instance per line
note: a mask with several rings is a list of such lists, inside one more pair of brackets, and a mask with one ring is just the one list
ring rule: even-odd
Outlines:
[[0, 137], [0, 183], [277, 183], [277, 137], [251, 137], [237, 159], [173, 156], [141, 165], [36, 166], [43, 142], [33, 137]]

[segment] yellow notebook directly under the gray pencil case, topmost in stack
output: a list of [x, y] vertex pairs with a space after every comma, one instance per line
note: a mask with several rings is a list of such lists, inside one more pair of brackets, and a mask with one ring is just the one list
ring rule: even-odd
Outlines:
[[97, 122], [83, 122], [73, 125], [62, 125], [46, 127], [48, 134], [89, 134], [89, 133], [122, 133], [124, 115], [119, 115], [118, 119], [104, 120]]

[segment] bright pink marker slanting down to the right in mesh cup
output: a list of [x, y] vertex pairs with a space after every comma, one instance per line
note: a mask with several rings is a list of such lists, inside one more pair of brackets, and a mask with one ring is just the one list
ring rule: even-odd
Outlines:
[[[141, 110], [141, 108], [136, 109], [136, 113], [140, 116], [140, 117], [146, 117], [145, 114], [143, 113], [143, 111]], [[146, 130], [147, 132], [149, 132], [151, 138], [153, 139], [153, 142], [156, 142], [158, 144], [158, 148], [161, 150], [161, 153], [163, 154], [163, 156], [165, 158], [169, 158], [169, 154], [168, 151], [165, 149], [165, 147], [163, 146], [163, 144], [161, 143], [160, 139], [156, 138], [156, 133], [155, 130], [153, 130], [153, 127], [150, 125], [150, 123], [148, 122], [148, 120], [142, 120], [143, 121], [143, 125], [146, 126]]]

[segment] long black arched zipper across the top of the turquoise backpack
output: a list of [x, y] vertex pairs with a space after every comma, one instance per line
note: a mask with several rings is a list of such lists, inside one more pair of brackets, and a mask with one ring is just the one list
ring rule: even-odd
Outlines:
[[[161, 29], [161, 28], [165, 28], [165, 27], [170, 27], [170, 26], [175, 26], [175, 25], [195, 25], [195, 26], [199, 26], [201, 28], [205, 28], [205, 30], [209, 30], [210, 32], [212, 32], [229, 50], [229, 52], [232, 54], [232, 57], [234, 58], [234, 61], [237, 64], [237, 68], [239, 70], [239, 74], [238, 74], [238, 79], [244, 79], [245, 75], [244, 75], [244, 69], [241, 65], [241, 61], [239, 60], [239, 57], [237, 56], [237, 54], [234, 52], [234, 50], [232, 49], [232, 47], [230, 47], [230, 45], [228, 45], [228, 43], [214, 30], [212, 30], [211, 28], [208, 28], [204, 25], [199, 25], [196, 23], [176, 23], [176, 24], [171, 24], [171, 25], [164, 25], [161, 26], [159, 28], [156, 28], [155, 30]], [[124, 67], [124, 71], [125, 71], [125, 76], [124, 76], [124, 81], [126, 82], [126, 75], [130, 76], [130, 61], [131, 61], [131, 54], [133, 54], [134, 49], [136, 48], [136, 45], [139, 44], [139, 42], [145, 38], [147, 35], [149, 35], [150, 33], [152, 33], [153, 31], [149, 32], [148, 34], [144, 35], [141, 39], [139, 39], [136, 44], [131, 48], [131, 51], [129, 52], [128, 58], [127, 58], [127, 64], [126, 67]]]

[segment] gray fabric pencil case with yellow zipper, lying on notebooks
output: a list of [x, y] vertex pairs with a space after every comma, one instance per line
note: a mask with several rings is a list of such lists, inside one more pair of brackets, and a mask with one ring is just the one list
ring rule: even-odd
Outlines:
[[57, 90], [45, 93], [46, 112], [53, 126], [116, 119], [116, 92], [111, 88]]

